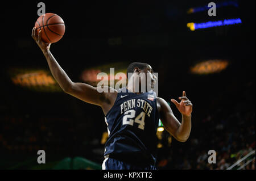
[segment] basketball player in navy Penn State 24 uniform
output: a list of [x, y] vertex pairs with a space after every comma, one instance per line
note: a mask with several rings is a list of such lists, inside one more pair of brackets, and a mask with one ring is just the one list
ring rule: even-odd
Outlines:
[[[132, 73], [132, 76], [126, 87], [119, 90], [108, 87], [108, 92], [100, 93], [96, 87], [69, 79], [50, 52], [50, 44], [41, 40], [41, 32], [37, 35], [33, 28], [32, 37], [44, 53], [49, 69], [61, 89], [86, 103], [102, 108], [109, 133], [102, 169], [155, 170], [156, 129], [159, 119], [177, 141], [185, 142], [188, 139], [191, 132], [192, 103], [185, 91], [179, 98], [180, 102], [171, 99], [182, 115], [181, 124], [167, 102], [156, 97], [154, 91], [134, 92], [131, 80], [143, 73], [151, 75], [151, 86], [154, 85], [156, 77], [150, 65], [137, 62], [130, 64], [127, 73]], [[142, 81], [143, 77], [139, 80]], [[110, 89], [114, 92], [110, 92]]]

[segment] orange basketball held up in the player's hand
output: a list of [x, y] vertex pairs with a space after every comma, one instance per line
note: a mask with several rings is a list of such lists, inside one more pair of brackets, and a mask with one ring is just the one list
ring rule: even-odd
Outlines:
[[53, 13], [41, 15], [35, 23], [36, 30], [41, 30], [42, 40], [46, 43], [59, 41], [65, 33], [65, 24], [60, 16]]

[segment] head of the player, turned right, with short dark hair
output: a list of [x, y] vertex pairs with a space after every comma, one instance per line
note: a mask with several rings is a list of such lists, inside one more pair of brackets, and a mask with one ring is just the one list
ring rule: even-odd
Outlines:
[[146, 83], [146, 91], [148, 91], [147, 87], [153, 88], [156, 82], [156, 76], [154, 75], [152, 67], [141, 62], [131, 63], [127, 68], [126, 76], [128, 78], [128, 84], [129, 82], [133, 82], [130, 85], [134, 86], [134, 82], [138, 81], [139, 90], [142, 90], [142, 82]]

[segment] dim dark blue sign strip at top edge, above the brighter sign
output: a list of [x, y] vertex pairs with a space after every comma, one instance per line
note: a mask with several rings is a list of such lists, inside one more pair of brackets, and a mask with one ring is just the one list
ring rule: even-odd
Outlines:
[[[224, 2], [216, 3], [216, 7], [217, 8], [225, 7], [225, 6], [238, 7], [238, 2], [237, 1], [224, 1]], [[210, 9], [210, 7], [208, 7], [208, 5], [201, 6], [201, 7], [192, 7], [192, 8], [188, 9], [187, 14], [192, 14], [192, 13], [195, 13], [195, 12], [207, 11], [209, 9]]]

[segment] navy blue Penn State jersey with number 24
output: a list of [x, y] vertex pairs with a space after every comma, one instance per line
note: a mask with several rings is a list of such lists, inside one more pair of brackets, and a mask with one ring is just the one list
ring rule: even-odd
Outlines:
[[155, 164], [159, 113], [154, 91], [135, 94], [126, 88], [119, 89], [105, 121], [109, 133], [105, 157], [137, 165]]

